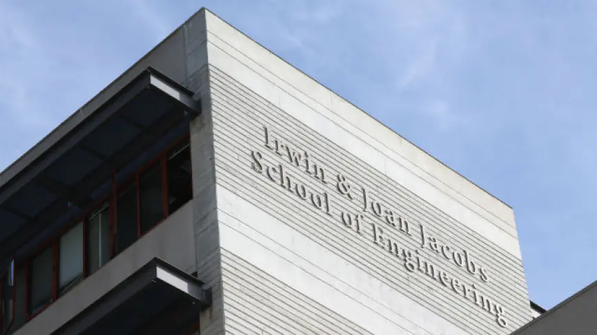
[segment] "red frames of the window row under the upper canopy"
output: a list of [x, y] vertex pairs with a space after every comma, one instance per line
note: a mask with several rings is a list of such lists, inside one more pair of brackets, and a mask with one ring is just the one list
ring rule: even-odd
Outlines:
[[[119, 250], [118, 252], [116, 252], [116, 238], [117, 238], [117, 232], [118, 232], [118, 195], [119, 195], [119, 190], [121, 190], [122, 188], [129, 186], [130, 183], [134, 183], [135, 184], [135, 190], [137, 192], [137, 239], [135, 240], [135, 242], [137, 240], [139, 240], [139, 238], [145, 236], [145, 234], [148, 234], [149, 232], [152, 231], [152, 229], [154, 229], [155, 227], [157, 227], [158, 225], [160, 225], [165, 219], [167, 219], [167, 217], [169, 216], [168, 214], [168, 181], [167, 181], [167, 159], [168, 159], [168, 153], [169, 151], [176, 147], [177, 145], [180, 145], [182, 142], [185, 141], [189, 141], [190, 139], [190, 135], [189, 134], [185, 134], [185, 136], [182, 136], [180, 138], [178, 138], [177, 140], [174, 140], [170, 145], [168, 145], [163, 151], [161, 151], [161, 153], [159, 153], [155, 158], [153, 158], [152, 160], [150, 160], [148, 163], [143, 164], [143, 166], [141, 166], [139, 169], [137, 169], [137, 171], [134, 171], [131, 173], [130, 177], [128, 177], [127, 179], [125, 179], [123, 182], [121, 183], [117, 183], [117, 179], [116, 179], [116, 173], [117, 171], [113, 171], [112, 174], [112, 192], [110, 192], [110, 194], [106, 195], [105, 197], [103, 197], [101, 200], [99, 201], [95, 201], [91, 206], [89, 206], [89, 208], [86, 208], [85, 210], [83, 210], [80, 214], [78, 214], [77, 216], [75, 216], [75, 219], [72, 220], [71, 223], [65, 225], [65, 227], [63, 227], [62, 229], [60, 229], [60, 233], [57, 234], [56, 236], [54, 236], [53, 238], [44, 241], [43, 243], [41, 243], [40, 245], [38, 245], [38, 247], [36, 247], [36, 249], [34, 249], [34, 251], [32, 251], [32, 253], [30, 253], [26, 258], [23, 259], [23, 261], [19, 261], [19, 263], [17, 264], [16, 260], [14, 261], [14, 275], [15, 275], [15, 280], [13, 282], [13, 286], [12, 286], [12, 319], [10, 321], [10, 323], [8, 323], [5, 326], [4, 324], [4, 320], [2, 320], [3, 315], [0, 315], [0, 334], [4, 334], [5, 330], [8, 330], [11, 326], [12, 323], [14, 323], [14, 317], [16, 315], [16, 273], [18, 273], [17, 269], [21, 269], [22, 266], [25, 266], [25, 301], [24, 301], [24, 314], [23, 314], [23, 319], [24, 319], [24, 323], [27, 323], [28, 321], [30, 321], [31, 319], [33, 319], [34, 317], [36, 317], [38, 314], [40, 314], [41, 312], [43, 312], [44, 310], [46, 310], [49, 306], [51, 306], [52, 303], [56, 302], [57, 299], [60, 298], [60, 296], [58, 295], [58, 282], [59, 282], [59, 252], [60, 252], [60, 238], [62, 238], [62, 236], [64, 236], [69, 229], [73, 228], [75, 225], [77, 225], [78, 223], [82, 223], [83, 225], [83, 273], [82, 273], [82, 278], [86, 278], [89, 276], [89, 260], [88, 260], [88, 255], [87, 255], [87, 245], [86, 245], [86, 241], [87, 241], [87, 234], [89, 233], [89, 215], [91, 214], [91, 212], [93, 212], [94, 210], [97, 210], [100, 208], [100, 206], [102, 206], [104, 203], [108, 203], [108, 208], [110, 208], [108, 210], [108, 229], [109, 229], [109, 234], [108, 236], [110, 236], [109, 241], [108, 241], [108, 248], [110, 250], [110, 260], [112, 260], [113, 258], [115, 258], [117, 256], [118, 253], [121, 253], [124, 250]], [[152, 167], [154, 164], [160, 164], [161, 165], [161, 186], [162, 186], [162, 207], [163, 207], [163, 216], [162, 219], [160, 221], [158, 221], [153, 227], [151, 227], [150, 229], [148, 229], [147, 232], [144, 232], [143, 234], [141, 234], [141, 193], [139, 192], [139, 180], [140, 180], [140, 176], [141, 174], [146, 171], [147, 169], [149, 169], [150, 167]], [[191, 162], [192, 165], [192, 162]], [[30, 273], [30, 268], [31, 268], [31, 264], [30, 261], [35, 258], [36, 256], [38, 256], [41, 252], [45, 251], [45, 249], [47, 249], [48, 247], [52, 248], [52, 275], [51, 275], [51, 281], [52, 281], [52, 297], [51, 297], [51, 301], [49, 303], [45, 303], [44, 306], [40, 307], [38, 310], [36, 310], [36, 312], [34, 313], [30, 313], [30, 293], [31, 293], [31, 273]], [[108, 261], [109, 262], [109, 261]], [[21, 264], [22, 263], [22, 264]], [[3, 277], [2, 277], [3, 279]], [[2, 298], [2, 294], [3, 291], [1, 290], [3, 285], [3, 282], [0, 282], [0, 302], [3, 301], [1, 300]], [[196, 329], [194, 329], [196, 330]]]

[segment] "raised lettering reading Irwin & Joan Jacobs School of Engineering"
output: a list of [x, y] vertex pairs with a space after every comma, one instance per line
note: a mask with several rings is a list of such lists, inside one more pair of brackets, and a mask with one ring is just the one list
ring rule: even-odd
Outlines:
[[[316, 210], [324, 212], [331, 216], [333, 203], [331, 203], [330, 193], [327, 187], [336, 188], [336, 191], [341, 195], [345, 196], [350, 200], [353, 200], [353, 191], [356, 188], [362, 190], [362, 208], [358, 212], [345, 212], [339, 211], [340, 217], [334, 216], [336, 220], [342, 222], [342, 226], [353, 230], [361, 234], [362, 227], [365, 221], [367, 212], [371, 214], [371, 219], [377, 221], [377, 223], [371, 223], [373, 233], [373, 243], [377, 247], [382, 248], [385, 252], [389, 252], [395, 256], [395, 261], [402, 262], [406, 271], [410, 273], [417, 272], [417, 275], [427, 275], [437, 282], [440, 286], [445, 286], [449, 290], [454, 292], [466, 299], [470, 303], [478, 306], [482, 310], [489, 312], [495, 316], [495, 321], [500, 327], [506, 327], [508, 325], [506, 310], [498, 302], [491, 299], [483, 293], [482, 288], [477, 288], [475, 284], [469, 284], [463, 282], [459, 278], [450, 275], [449, 271], [443, 269], [443, 264], [448, 262], [450, 266], [454, 266], [454, 269], [458, 273], [467, 273], [476, 277], [476, 280], [481, 282], [489, 282], [489, 271], [481, 264], [479, 258], [476, 258], [473, 253], [469, 250], [460, 248], [456, 245], [450, 245], [442, 240], [441, 236], [434, 236], [434, 228], [442, 227], [433, 223], [431, 230], [426, 229], [424, 222], [417, 222], [420, 229], [420, 236], [414, 236], [416, 245], [413, 249], [410, 249], [403, 238], [410, 239], [413, 234], [410, 229], [410, 219], [401, 214], [402, 209], [393, 207], [391, 202], [388, 203], [383, 197], [378, 197], [375, 193], [370, 193], [366, 186], [355, 185], [349, 182], [346, 175], [342, 171], [332, 171], [327, 169], [325, 164], [318, 161], [316, 158], [309, 155], [306, 150], [296, 147], [292, 140], [288, 140], [278, 133], [263, 127], [264, 134], [264, 147], [268, 151], [276, 153], [272, 156], [275, 162], [268, 164], [266, 158], [259, 151], [250, 151], [250, 167], [253, 171], [259, 175], [264, 175], [263, 180], [266, 182], [272, 182], [274, 187], [281, 187], [288, 190], [290, 193], [294, 193], [295, 197], [283, 197], [284, 201], [304, 201], [306, 206], [313, 206]], [[321, 145], [322, 143], [317, 142], [314, 145]], [[325, 148], [322, 152], [325, 152]], [[280, 157], [276, 157], [280, 156]], [[288, 161], [286, 161], [288, 158]], [[309, 178], [317, 179], [323, 185], [327, 185], [331, 180], [327, 180], [327, 177], [336, 176], [336, 185], [322, 186], [323, 189], [312, 188], [309, 183], [305, 184], [302, 182], [302, 178], [293, 175], [293, 171], [299, 171], [299, 173], [309, 175]], [[333, 183], [332, 183], [333, 184]], [[394, 187], [388, 185], [381, 185], [380, 188]], [[358, 192], [358, 191], [357, 191]], [[358, 197], [358, 195], [357, 195]], [[411, 212], [407, 210], [407, 212]], [[418, 217], [425, 217], [418, 216]], [[379, 223], [383, 221], [384, 223]], [[327, 221], [322, 221], [322, 224], [327, 224]], [[441, 223], [440, 223], [441, 224]], [[383, 227], [388, 225], [391, 229]], [[445, 227], [450, 227], [445, 225]], [[328, 228], [326, 228], [328, 229]], [[334, 228], [336, 229], [336, 228]], [[386, 230], [388, 229], [388, 230]], [[395, 229], [395, 230], [394, 230]], [[441, 231], [441, 230], [440, 230]], [[406, 234], [401, 235], [399, 233]], [[415, 232], [416, 234], [416, 232]], [[420, 240], [419, 240], [420, 238]], [[419, 243], [417, 243], [417, 240]], [[411, 242], [412, 243], [412, 242]], [[419, 252], [421, 249], [427, 249], [428, 252]], [[436, 260], [441, 260], [441, 263], [436, 263], [432, 258], [436, 257]], [[460, 269], [458, 269], [460, 268]], [[409, 275], [410, 280], [410, 275]]]

